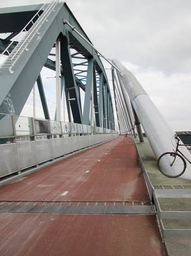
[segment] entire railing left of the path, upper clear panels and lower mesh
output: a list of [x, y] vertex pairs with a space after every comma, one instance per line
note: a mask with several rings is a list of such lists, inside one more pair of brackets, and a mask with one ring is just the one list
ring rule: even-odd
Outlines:
[[0, 114], [0, 178], [117, 136], [102, 127]]

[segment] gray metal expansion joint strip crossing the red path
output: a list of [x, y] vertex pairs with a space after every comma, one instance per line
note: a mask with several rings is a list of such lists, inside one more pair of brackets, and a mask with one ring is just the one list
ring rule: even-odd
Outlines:
[[[7, 203], [7, 204], [5, 204]], [[13, 204], [11, 204], [13, 203]], [[29, 204], [28, 204], [29, 203]], [[49, 203], [49, 204], [47, 204]], [[67, 205], [63, 202], [61, 205], [57, 203], [50, 202], [26, 202], [21, 205], [19, 202], [2, 202], [0, 204], [0, 212], [1, 213], [55, 213], [55, 214], [156, 214], [155, 208], [150, 203], [150, 205], [115, 205], [117, 203], [105, 202], [104, 205], [99, 205], [99, 203], [91, 202], [80, 205], [80, 202], [76, 205], [72, 205], [73, 203], [67, 202]], [[50, 205], [51, 204], [51, 205]], [[70, 205], [71, 204], [71, 205]], [[89, 205], [88, 205], [89, 204]], [[93, 205], [91, 205], [93, 204]], [[109, 205], [110, 204], [110, 205]], [[148, 202], [147, 202], [148, 204]]]

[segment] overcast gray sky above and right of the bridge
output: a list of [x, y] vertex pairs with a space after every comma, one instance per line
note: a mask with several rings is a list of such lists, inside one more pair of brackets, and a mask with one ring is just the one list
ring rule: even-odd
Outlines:
[[[0, 0], [0, 7], [45, 2]], [[94, 46], [134, 74], [172, 130], [190, 131], [191, 1], [67, 0], [67, 4]]]

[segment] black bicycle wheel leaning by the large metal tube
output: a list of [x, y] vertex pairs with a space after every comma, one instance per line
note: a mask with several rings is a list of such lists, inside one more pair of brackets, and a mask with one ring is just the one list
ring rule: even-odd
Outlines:
[[158, 158], [157, 166], [166, 177], [177, 178], [184, 173], [186, 161], [175, 152], [166, 152]]

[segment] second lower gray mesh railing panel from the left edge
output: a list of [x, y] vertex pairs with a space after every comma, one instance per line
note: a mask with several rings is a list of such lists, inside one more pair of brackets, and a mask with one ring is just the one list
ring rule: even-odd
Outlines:
[[17, 153], [20, 170], [35, 166], [35, 164], [37, 164], [35, 141], [17, 143]]

